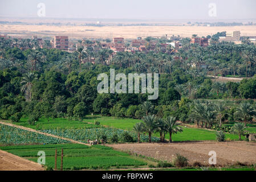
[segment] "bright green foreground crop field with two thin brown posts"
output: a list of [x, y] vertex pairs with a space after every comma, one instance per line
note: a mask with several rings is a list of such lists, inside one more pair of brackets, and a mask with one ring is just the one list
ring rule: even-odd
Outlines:
[[32, 146], [6, 146], [1, 150], [37, 162], [38, 151], [46, 153], [46, 166], [54, 168], [55, 148], [58, 149], [57, 166], [60, 168], [60, 148], [63, 148], [63, 169], [108, 169], [146, 166], [145, 159], [129, 156], [106, 146], [85, 146], [82, 144], [45, 144]]

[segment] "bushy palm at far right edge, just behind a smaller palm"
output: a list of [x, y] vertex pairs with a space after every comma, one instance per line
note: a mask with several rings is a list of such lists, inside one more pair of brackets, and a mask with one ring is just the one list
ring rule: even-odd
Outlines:
[[243, 102], [237, 107], [237, 111], [235, 111], [235, 115], [237, 115], [238, 118], [241, 118], [243, 122], [249, 121], [253, 115], [256, 114], [256, 111], [253, 109], [253, 106], [248, 102]]

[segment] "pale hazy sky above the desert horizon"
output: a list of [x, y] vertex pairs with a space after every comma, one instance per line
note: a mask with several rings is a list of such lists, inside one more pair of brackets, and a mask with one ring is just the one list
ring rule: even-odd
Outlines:
[[[40, 2], [46, 18], [256, 18], [255, 0], [0, 0], [0, 16], [37, 17]], [[216, 16], [209, 16], [209, 3], [216, 3]]]

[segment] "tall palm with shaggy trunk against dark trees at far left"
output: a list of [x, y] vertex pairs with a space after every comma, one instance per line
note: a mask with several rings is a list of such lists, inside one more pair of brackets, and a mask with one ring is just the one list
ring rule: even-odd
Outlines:
[[36, 74], [34, 73], [27, 73], [21, 81], [22, 87], [21, 87], [21, 91], [25, 92], [26, 94], [26, 101], [31, 101], [31, 91], [32, 91], [32, 81], [36, 80]]

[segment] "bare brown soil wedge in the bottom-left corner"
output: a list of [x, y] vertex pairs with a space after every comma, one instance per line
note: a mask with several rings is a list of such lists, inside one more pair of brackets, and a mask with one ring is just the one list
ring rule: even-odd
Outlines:
[[0, 150], [0, 171], [43, 171], [44, 168], [35, 162], [20, 158], [17, 155]]

